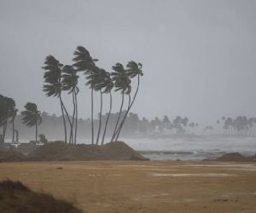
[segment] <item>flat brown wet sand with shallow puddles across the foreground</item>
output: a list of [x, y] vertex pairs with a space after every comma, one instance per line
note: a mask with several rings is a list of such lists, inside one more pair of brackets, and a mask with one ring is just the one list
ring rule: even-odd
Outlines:
[[255, 163], [1, 163], [7, 178], [90, 213], [256, 212]]

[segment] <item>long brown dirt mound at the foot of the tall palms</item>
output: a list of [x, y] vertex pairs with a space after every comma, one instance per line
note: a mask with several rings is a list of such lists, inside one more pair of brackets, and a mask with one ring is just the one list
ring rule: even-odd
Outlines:
[[148, 160], [122, 141], [103, 146], [79, 144], [76, 146], [61, 141], [46, 144], [34, 150], [27, 160]]

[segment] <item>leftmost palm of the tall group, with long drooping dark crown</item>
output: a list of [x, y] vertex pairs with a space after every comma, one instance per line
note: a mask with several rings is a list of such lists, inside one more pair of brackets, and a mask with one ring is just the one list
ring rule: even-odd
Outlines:
[[64, 134], [65, 134], [65, 142], [67, 143], [67, 125], [65, 120], [64, 111], [67, 114], [67, 119], [69, 124], [71, 124], [69, 115], [67, 113], [67, 109], [64, 106], [64, 103], [61, 98], [61, 72], [62, 72], [62, 64], [59, 60], [56, 60], [54, 56], [49, 55], [46, 57], [44, 61], [44, 65], [42, 68], [45, 70], [44, 72], [44, 87], [43, 91], [45, 95], [48, 97], [58, 97], [60, 104], [61, 104], [61, 113], [62, 113], [62, 120], [64, 126]]

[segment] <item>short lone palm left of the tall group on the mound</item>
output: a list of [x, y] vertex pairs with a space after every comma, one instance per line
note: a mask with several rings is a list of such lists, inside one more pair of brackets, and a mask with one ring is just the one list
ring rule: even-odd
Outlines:
[[21, 112], [22, 123], [26, 126], [36, 126], [36, 142], [38, 141], [38, 125], [42, 123], [41, 113], [35, 103], [28, 102], [25, 105], [25, 111]]

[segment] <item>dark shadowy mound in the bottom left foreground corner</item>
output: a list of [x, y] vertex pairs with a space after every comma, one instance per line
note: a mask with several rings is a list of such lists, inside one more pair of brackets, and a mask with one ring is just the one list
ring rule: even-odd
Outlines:
[[32, 192], [20, 181], [0, 182], [0, 210], [11, 213], [82, 213], [73, 204], [46, 193]]

